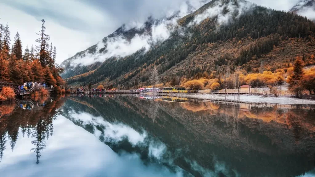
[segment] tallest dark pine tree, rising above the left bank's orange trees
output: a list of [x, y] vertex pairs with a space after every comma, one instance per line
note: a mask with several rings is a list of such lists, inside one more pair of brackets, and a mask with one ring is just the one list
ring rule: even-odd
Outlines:
[[46, 61], [47, 61], [47, 56], [48, 56], [48, 52], [46, 49], [46, 43], [48, 43], [49, 39], [50, 39], [50, 36], [45, 33], [46, 27], [44, 25], [45, 25], [45, 20], [43, 19], [42, 20], [42, 29], [41, 29], [41, 31], [36, 33], [37, 36], [39, 36], [39, 38], [36, 39], [36, 42], [39, 43], [39, 45], [36, 46], [37, 52], [38, 52], [37, 55], [39, 56], [39, 61], [43, 67], [46, 66]]

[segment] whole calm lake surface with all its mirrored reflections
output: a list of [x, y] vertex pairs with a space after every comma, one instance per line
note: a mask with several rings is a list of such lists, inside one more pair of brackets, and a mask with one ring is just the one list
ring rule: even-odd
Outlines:
[[314, 106], [140, 95], [1, 105], [1, 176], [314, 176]]

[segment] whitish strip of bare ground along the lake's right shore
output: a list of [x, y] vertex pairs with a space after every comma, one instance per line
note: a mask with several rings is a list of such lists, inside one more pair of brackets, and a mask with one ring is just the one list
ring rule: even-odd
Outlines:
[[[184, 94], [184, 93], [176, 93], [176, 94], [165, 94], [168, 96], [177, 96], [177, 97], [186, 97], [186, 98], [195, 98], [195, 99], [204, 99], [204, 100], [225, 100], [224, 94]], [[237, 95], [236, 100], [237, 100]], [[227, 101], [234, 101], [234, 95], [228, 94], [226, 95]], [[298, 105], [298, 104], [315, 104], [315, 100], [306, 100], [306, 99], [298, 99], [292, 98], [289, 96], [281, 96], [281, 97], [264, 97], [261, 95], [239, 95], [240, 102], [247, 103], [273, 103], [273, 104], [284, 104], [284, 105]]]

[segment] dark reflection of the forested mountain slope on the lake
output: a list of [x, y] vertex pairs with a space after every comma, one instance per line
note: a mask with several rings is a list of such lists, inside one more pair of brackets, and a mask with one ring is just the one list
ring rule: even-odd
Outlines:
[[[106, 141], [110, 140], [104, 138], [106, 126], [71, 115], [84, 112], [109, 123], [123, 123], [137, 132], [144, 129], [165, 144], [165, 156], [173, 157], [178, 167], [196, 176], [234, 176], [236, 172], [244, 176], [295, 176], [314, 167], [313, 106], [81, 95], [67, 99], [63, 110], [63, 116], [76, 125], [93, 134], [101, 131], [100, 137], [95, 136], [114, 151], [136, 151], [147, 159], [147, 148]], [[218, 166], [225, 168], [216, 171]]]

